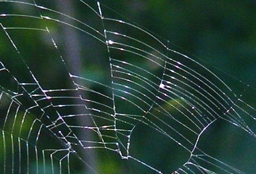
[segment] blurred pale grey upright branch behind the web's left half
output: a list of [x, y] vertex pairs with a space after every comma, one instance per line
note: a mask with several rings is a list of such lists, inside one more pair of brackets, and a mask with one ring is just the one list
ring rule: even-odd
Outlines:
[[[63, 1], [58, 1], [58, 10], [61, 11], [61, 13], [67, 14], [69, 16], [74, 17], [75, 16], [75, 11], [73, 8], [73, 1], [71, 0], [63, 0]], [[71, 25], [75, 25], [73, 24], [73, 20], [65, 18], [65, 22], [68, 22]], [[69, 62], [69, 70], [70, 72], [72, 72], [73, 74], [79, 76], [79, 73], [81, 73], [81, 68], [82, 68], [82, 63], [81, 63], [81, 45], [79, 42], [79, 34], [76, 32], [75, 28], [72, 28], [70, 26], [64, 26], [63, 28], [61, 28], [61, 30], [63, 31], [60, 32], [59, 37], [62, 40], [62, 42], [64, 43], [64, 50], [65, 50], [65, 58], [68, 59]], [[73, 84], [71, 84], [73, 85]], [[86, 92], [83, 91], [76, 91], [76, 93], [73, 93], [74, 96], [85, 96]], [[81, 100], [74, 100], [73, 101], [74, 104], [76, 105], [81, 105], [81, 104], [85, 104], [84, 101]], [[86, 104], [87, 105], [87, 104]], [[76, 114], [81, 114], [81, 113], [85, 113], [88, 112], [87, 110], [81, 109], [81, 107], [74, 107], [75, 113]], [[87, 126], [87, 125], [91, 125], [91, 120], [88, 117], [77, 117], [76, 122]], [[79, 134], [79, 138], [81, 138], [81, 140], [88, 140], [91, 139], [92, 135], [90, 134], [90, 132], [87, 132], [86, 134], [84, 134], [84, 132], [80, 131], [78, 132]], [[80, 157], [82, 159], [85, 160], [85, 162], [90, 166], [90, 168], [95, 168], [95, 154], [92, 151], [88, 151], [86, 149], [82, 150]], [[84, 173], [86, 174], [90, 174], [92, 173], [91, 170], [88, 170], [88, 168], [86, 168], [86, 166], [84, 166]]]

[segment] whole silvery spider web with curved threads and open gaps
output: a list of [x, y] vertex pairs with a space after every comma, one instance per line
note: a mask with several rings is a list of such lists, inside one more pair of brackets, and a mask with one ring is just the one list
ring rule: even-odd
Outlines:
[[254, 146], [254, 89], [76, 3], [0, 0], [1, 173], [247, 173], [231, 147]]

